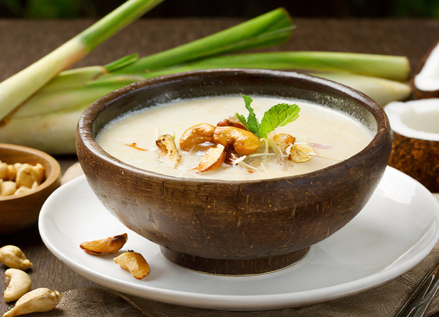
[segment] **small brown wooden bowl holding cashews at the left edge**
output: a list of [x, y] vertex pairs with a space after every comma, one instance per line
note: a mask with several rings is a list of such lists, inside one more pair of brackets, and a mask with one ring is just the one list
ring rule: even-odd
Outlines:
[[0, 144], [0, 160], [8, 164], [40, 163], [45, 168], [45, 180], [35, 190], [0, 197], [0, 235], [6, 235], [36, 224], [41, 206], [60, 185], [61, 169], [52, 156], [40, 150], [12, 144]]

